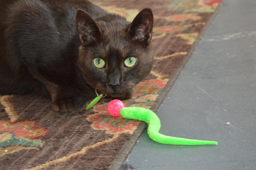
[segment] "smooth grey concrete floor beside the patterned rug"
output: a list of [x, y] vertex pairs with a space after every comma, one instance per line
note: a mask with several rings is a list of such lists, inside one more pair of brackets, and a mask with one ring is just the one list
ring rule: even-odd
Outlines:
[[160, 133], [218, 146], [159, 144], [145, 131], [126, 160], [137, 170], [256, 170], [256, 0], [224, 1], [157, 115]]

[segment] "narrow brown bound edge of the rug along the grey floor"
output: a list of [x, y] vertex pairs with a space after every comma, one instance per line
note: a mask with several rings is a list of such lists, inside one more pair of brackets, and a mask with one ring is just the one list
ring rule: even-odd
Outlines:
[[[163, 88], [163, 91], [161, 94], [157, 97], [157, 100], [154, 102], [154, 105], [151, 107], [151, 110], [153, 112], [156, 112], [160, 104], [165, 99], [167, 93], [171, 89], [172, 85], [176, 81], [177, 77], [180, 75], [181, 70], [184, 68], [186, 62], [189, 60], [190, 56], [194, 52], [196, 46], [198, 46], [198, 43], [200, 42], [202, 36], [204, 35], [205, 31], [209, 27], [209, 25], [212, 23], [212, 20], [215, 18], [215, 16], [218, 14], [219, 10], [221, 9], [221, 6], [223, 6], [225, 0], [222, 0], [218, 7], [213, 12], [212, 16], [209, 18], [205, 26], [201, 29], [201, 32], [199, 33], [197, 39], [192, 44], [192, 48], [189, 49], [188, 53], [184, 57], [184, 60], [179, 64], [177, 69], [172, 73], [171, 77], [169, 78], [169, 81], [167, 82], [166, 86]], [[148, 124], [146, 124], [144, 121], [141, 122], [141, 124], [137, 127], [137, 130], [134, 131], [134, 133], [131, 135], [130, 140], [125, 143], [125, 145], [120, 150], [119, 154], [116, 156], [115, 160], [111, 164], [109, 170], [120, 170], [122, 167], [122, 164], [125, 162], [125, 159], [128, 157], [128, 155], [131, 153], [131, 150], [134, 148], [135, 144], [137, 143], [138, 139], [142, 135], [143, 131], [147, 128]]]

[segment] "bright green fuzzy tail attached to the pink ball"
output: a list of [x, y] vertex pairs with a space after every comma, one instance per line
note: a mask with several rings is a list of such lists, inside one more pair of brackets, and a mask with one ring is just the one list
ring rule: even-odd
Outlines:
[[124, 107], [121, 109], [120, 114], [124, 118], [135, 119], [139, 121], [145, 121], [148, 124], [148, 136], [156, 142], [162, 144], [177, 144], [177, 145], [205, 145], [213, 144], [217, 145], [216, 141], [201, 141], [195, 139], [176, 138], [172, 136], [166, 136], [159, 133], [161, 128], [160, 119], [150, 109], [143, 107]]

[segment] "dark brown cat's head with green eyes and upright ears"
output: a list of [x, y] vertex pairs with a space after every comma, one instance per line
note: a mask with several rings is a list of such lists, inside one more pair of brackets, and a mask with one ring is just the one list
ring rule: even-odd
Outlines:
[[143, 9], [129, 23], [118, 15], [95, 21], [79, 9], [76, 25], [81, 46], [78, 64], [84, 80], [102, 94], [128, 99], [153, 64], [150, 47], [151, 9]]

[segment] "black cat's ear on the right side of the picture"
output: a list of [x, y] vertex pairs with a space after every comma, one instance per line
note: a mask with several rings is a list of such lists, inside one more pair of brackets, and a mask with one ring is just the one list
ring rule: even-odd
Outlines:
[[141, 10], [128, 29], [132, 40], [139, 40], [149, 45], [152, 38], [153, 23], [154, 18], [151, 9]]

